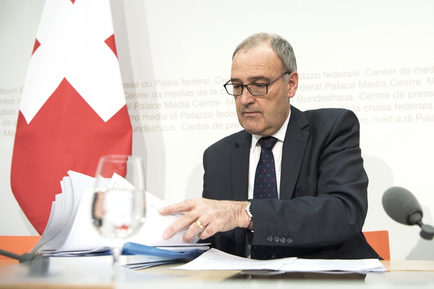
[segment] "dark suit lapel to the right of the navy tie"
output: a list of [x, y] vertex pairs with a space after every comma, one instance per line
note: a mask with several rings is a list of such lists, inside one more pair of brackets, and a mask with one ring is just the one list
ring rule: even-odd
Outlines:
[[291, 106], [291, 117], [286, 129], [285, 141], [282, 148], [282, 167], [280, 171], [280, 199], [291, 199], [301, 162], [303, 160], [309, 133], [302, 131], [309, 122], [303, 113]]

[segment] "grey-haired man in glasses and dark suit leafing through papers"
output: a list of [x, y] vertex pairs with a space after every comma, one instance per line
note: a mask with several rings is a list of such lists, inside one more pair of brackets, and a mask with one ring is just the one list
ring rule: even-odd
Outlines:
[[[237, 47], [225, 88], [244, 130], [205, 150], [203, 198], [160, 209], [163, 215], [187, 212], [163, 237], [189, 226], [185, 241], [199, 234], [238, 256], [250, 256], [252, 245], [257, 259], [381, 258], [361, 233], [368, 178], [358, 120], [345, 109], [291, 107], [297, 86], [286, 40], [259, 33]], [[277, 139], [271, 150], [277, 192], [259, 197], [255, 174], [258, 160], [265, 161], [259, 140], [269, 136]], [[258, 257], [258, 248], [267, 253]]]

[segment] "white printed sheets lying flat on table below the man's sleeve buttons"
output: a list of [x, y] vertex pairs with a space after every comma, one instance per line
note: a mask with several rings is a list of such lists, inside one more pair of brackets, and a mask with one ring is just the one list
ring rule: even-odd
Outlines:
[[385, 272], [378, 259], [323, 260], [282, 258], [274, 260], [252, 260], [210, 249], [176, 270], [276, 270], [284, 272]]

